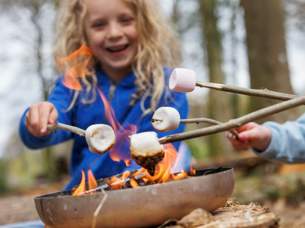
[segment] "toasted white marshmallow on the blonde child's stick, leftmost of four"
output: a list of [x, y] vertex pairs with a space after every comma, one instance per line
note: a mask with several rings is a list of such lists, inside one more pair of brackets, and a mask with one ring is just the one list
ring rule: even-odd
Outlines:
[[112, 127], [106, 124], [89, 126], [85, 137], [92, 153], [104, 154], [115, 144], [115, 133]]

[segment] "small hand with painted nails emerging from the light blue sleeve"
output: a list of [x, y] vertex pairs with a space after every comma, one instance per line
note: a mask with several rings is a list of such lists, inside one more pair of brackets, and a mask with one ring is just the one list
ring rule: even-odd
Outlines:
[[229, 131], [226, 132], [226, 136], [235, 150], [245, 150], [250, 145], [256, 150], [263, 151], [266, 150], [271, 140], [271, 130], [254, 122], [237, 127], [235, 130], [239, 132], [238, 137], [241, 141], [237, 140]]

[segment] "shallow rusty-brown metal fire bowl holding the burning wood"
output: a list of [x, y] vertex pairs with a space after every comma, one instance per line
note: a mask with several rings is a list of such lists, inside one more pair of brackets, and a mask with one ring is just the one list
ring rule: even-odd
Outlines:
[[[193, 178], [106, 191], [96, 227], [151, 227], [179, 220], [198, 207], [214, 211], [225, 205], [233, 188], [233, 168], [219, 168], [196, 170]], [[91, 228], [103, 197], [102, 192], [73, 197], [69, 190], [34, 201], [40, 219], [50, 228]]]

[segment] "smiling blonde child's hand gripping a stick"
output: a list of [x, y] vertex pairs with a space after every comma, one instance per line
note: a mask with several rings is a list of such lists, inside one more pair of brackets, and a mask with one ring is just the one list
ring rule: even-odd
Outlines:
[[25, 126], [34, 136], [41, 137], [50, 134], [47, 124], [54, 124], [58, 112], [51, 102], [43, 101], [32, 105], [25, 114]]

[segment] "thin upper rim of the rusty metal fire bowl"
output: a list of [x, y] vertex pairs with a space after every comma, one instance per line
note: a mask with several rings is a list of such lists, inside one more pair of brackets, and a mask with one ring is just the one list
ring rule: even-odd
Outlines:
[[[196, 170], [196, 172], [199, 172], [199, 171], [202, 171], [202, 170], [206, 170], [206, 172], [209, 172], [209, 171], [215, 171], [217, 169], [224, 169], [224, 170], [221, 170], [217, 173], [210, 173], [210, 174], [203, 174], [203, 175], [200, 175], [200, 176], [194, 176], [192, 178], [200, 178], [202, 176], [214, 176], [214, 175], [221, 175], [221, 173], [225, 173], [225, 172], [234, 172], [234, 169], [232, 167], [219, 167], [219, 168], [210, 168], [210, 169], [199, 169], [199, 170]], [[189, 172], [189, 171], [187, 171]], [[121, 173], [122, 174], [122, 173]], [[117, 175], [120, 175], [120, 174], [117, 174]], [[114, 176], [117, 176], [117, 175], [114, 175]], [[108, 177], [108, 178], [111, 178], [111, 177]], [[179, 179], [179, 183], [183, 183], [183, 182], [186, 182], [186, 181], [191, 181], [192, 178], [184, 178], [184, 179]], [[101, 179], [105, 179], [105, 178], [101, 178]], [[183, 181], [183, 182], [181, 182]], [[165, 183], [156, 183], [156, 184], [151, 184], [151, 185], [145, 185], [145, 186], [141, 186], [141, 187], [138, 187], [138, 188], [125, 188], [125, 189], [114, 189], [114, 190], [106, 190], [105, 192], [109, 195], [113, 195], [113, 194], [120, 194], [120, 192], [122, 192], [122, 190], [124, 190], [125, 192], [127, 191], [134, 191], [135, 189], [145, 189], [145, 188], [154, 188], [154, 186], [156, 185], [159, 185], [159, 184], [162, 184], [162, 185], [168, 185], [168, 184], [171, 184], [173, 182], [176, 182], [176, 181], [169, 181], [169, 182], [165, 182]], [[118, 191], [120, 190], [120, 191]], [[57, 193], [63, 193], [63, 192], [71, 192], [71, 190], [66, 190], [66, 191], [59, 191], [59, 192], [53, 192], [53, 193], [49, 193], [49, 194], [45, 194], [45, 195], [42, 195], [42, 196], [37, 196], [37, 197], [34, 197], [34, 200], [35, 199], [56, 199], [56, 198], [69, 198], [69, 197], [75, 197], [73, 196], [72, 194], [70, 195], [58, 195], [58, 196], [48, 196], [48, 195], [53, 195], [53, 194], [57, 194]], [[104, 195], [103, 192], [94, 192], [93, 193], [94, 195]], [[79, 195], [77, 197], [92, 197], [92, 194], [82, 194], [82, 195]]]

